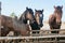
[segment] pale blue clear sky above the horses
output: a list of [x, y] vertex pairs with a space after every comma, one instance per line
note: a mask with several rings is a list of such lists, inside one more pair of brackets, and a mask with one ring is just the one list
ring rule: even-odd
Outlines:
[[20, 17], [26, 10], [26, 6], [34, 10], [43, 10], [43, 20], [48, 20], [49, 16], [54, 12], [54, 5], [63, 5], [63, 17], [65, 22], [65, 0], [0, 0], [1, 14], [9, 16], [12, 12]]

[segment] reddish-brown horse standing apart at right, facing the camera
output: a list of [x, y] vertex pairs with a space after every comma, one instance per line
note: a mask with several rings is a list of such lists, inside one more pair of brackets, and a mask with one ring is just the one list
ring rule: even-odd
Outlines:
[[[54, 6], [54, 13], [49, 17], [50, 29], [60, 29], [62, 24], [62, 11], [63, 6]], [[52, 33], [58, 33], [58, 31], [51, 31]]]

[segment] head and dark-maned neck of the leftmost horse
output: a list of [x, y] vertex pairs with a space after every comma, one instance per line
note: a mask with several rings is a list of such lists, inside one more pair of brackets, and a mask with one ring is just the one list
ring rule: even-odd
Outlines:
[[26, 8], [26, 11], [21, 15], [18, 20], [21, 20], [24, 24], [27, 24], [27, 20], [32, 22], [34, 20], [34, 12], [32, 12], [32, 10], [29, 9], [29, 8]]

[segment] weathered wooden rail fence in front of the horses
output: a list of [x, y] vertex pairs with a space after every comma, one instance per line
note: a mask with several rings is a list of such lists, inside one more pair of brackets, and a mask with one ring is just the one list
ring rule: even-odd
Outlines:
[[[32, 31], [54, 31], [54, 30], [31, 30]], [[56, 31], [65, 31], [65, 29], [57, 29]], [[14, 43], [15, 40], [22, 40], [21, 43], [65, 43], [65, 34], [64, 33], [31, 33], [30, 37], [0, 37], [1, 43], [10, 43], [12, 40]], [[23, 41], [24, 40], [24, 41]], [[18, 42], [20, 43], [20, 42]]]

